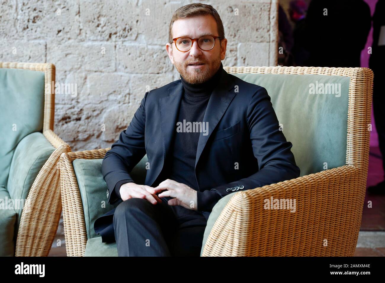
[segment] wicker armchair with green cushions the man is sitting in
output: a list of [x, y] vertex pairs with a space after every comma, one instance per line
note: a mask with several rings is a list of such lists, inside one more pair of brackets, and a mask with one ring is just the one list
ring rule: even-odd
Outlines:
[[[373, 72], [224, 69], [266, 88], [301, 175], [220, 199], [208, 219], [201, 256], [353, 256], [366, 188]], [[68, 256], [117, 256], [116, 243], [102, 243], [93, 229], [95, 219], [113, 208], [101, 173], [107, 150], [60, 157]], [[145, 164], [146, 156], [132, 171], [136, 183], [144, 180]], [[271, 197], [295, 199], [295, 213], [266, 209]]]

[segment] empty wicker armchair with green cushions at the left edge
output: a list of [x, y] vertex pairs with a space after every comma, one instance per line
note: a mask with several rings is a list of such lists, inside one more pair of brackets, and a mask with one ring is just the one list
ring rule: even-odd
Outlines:
[[0, 62], [0, 256], [46, 256], [59, 224], [53, 64]]

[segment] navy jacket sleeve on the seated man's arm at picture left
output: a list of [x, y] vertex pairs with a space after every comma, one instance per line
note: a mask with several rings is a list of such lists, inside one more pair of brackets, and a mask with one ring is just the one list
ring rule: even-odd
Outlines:
[[[129, 172], [141, 161], [146, 154], [144, 144], [144, 128], [146, 124], [145, 103], [148, 92], [144, 95], [141, 105], [137, 109], [126, 130], [122, 131], [119, 139], [112, 144], [102, 161], [102, 174], [107, 183], [108, 203], [119, 201], [116, 192], [113, 192], [118, 182], [122, 180], [134, 181]], [[120, 188], [120, 186], [119, 186]]]

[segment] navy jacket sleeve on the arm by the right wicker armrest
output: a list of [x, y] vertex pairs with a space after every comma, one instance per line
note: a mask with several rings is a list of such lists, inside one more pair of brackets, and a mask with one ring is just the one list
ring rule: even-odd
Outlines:
[[251, 97], [246, 119], [254, 157], [258, 160], [259, 168], [247, 178], [211, 189], [221, 197], [233, 193], [237, 187], [239, 189], [236, 191], [244, 191], [300, 176], [300, 168], [296, 166], [294, 155], [290, 150], [293, 145], [286, 141], [283, 132], [280, 131], [270, 96], [263, 87]]

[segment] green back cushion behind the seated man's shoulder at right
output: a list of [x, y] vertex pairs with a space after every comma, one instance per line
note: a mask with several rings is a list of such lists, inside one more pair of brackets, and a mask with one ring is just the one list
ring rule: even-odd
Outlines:
[[[264, 87], [283, 126], [283, 134], [293, 144], [291, 151], [308, 175], [345, 165], [350, 77], [338, 75], [233, 74]], [[318, 84], [317, 84], [318, 82]], [[340, 93], [310, 94], [310, 84], [337, 84]], [[327, 90], [329, 92], [329, 90]], [[325, 167], [326, 168], [326, 167]]]

